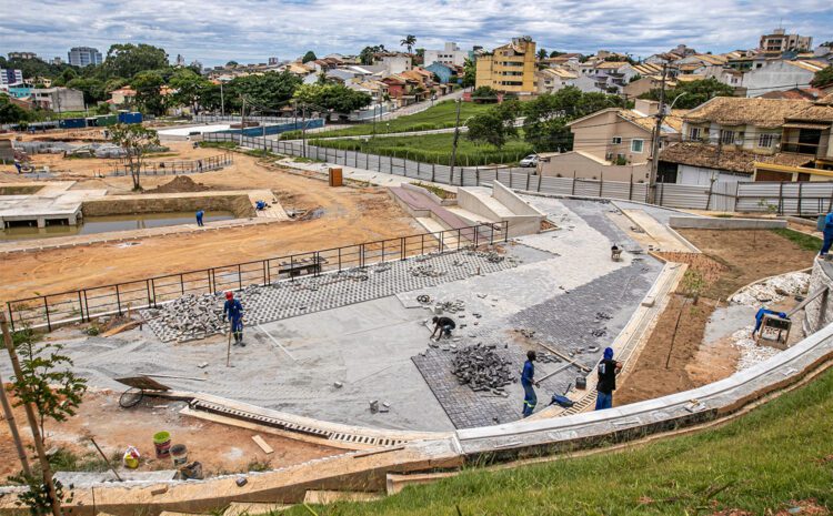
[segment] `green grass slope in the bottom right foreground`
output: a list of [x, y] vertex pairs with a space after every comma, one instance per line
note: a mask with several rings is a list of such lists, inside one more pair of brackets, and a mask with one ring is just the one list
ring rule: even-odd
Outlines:
[[[473, 468], [379, 502], [313, 509], [339, 516], [774, 514], [805, 498], [831, 507], [832, 423], [829, 371], [720, 428], [619, 453], [498, 472]], [[295, 506], [283, 514], [310, 512]]]

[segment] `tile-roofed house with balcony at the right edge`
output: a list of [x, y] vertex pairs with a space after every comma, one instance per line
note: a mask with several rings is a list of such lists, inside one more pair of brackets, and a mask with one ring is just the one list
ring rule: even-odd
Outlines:
[[664, 182], [830, 181], [833, 94], [816, 101], [716, 97], [683, 117], [660, 155]]

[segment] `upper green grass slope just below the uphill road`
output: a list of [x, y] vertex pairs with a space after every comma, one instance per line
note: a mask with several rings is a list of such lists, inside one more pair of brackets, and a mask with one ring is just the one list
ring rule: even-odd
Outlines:
[[[494, 104], [491, 104], [494, 105]], [[473, 102], [463, 102], [460, 105], [460, 124], [462, 125], [469, 117], [480, 114], [488, 110], [490, 104], [475, 104]], [[425, 111], [407, 114], [390, 121], [377, 121], [377, 134], [409, 132], [409, 131], [431, 131], [434, 129], [453, 128], [456, 118], [456, 105], [453, 101], [444, 101], [429, 108]], [[334, 129], [314, 133], [315, 138], [328, 136], [360, 136], [373, 134], [373, 123], [367, 122], [351, 128]], [[281, 140], [298, 140], [301, 138], [301, 131], [289, 131], [281, 134]]]

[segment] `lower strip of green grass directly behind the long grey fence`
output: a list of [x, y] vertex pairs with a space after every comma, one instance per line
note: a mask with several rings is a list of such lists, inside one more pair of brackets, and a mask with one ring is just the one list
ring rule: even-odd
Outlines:
[[[312, 145], [331, 149], [369, 152], [425, 163], [448, 165], [451, 161], [451, 133], [423, 134], [420, 136], [389, 136], [364, 140], [313, 140]], [[511, 140], [502, 149], [475, 143], [460, 135], [456, 150], [458, 166], [485, 165], [491, 163], [516, 163], [532, 152], [532, 145], [523, 140]]]

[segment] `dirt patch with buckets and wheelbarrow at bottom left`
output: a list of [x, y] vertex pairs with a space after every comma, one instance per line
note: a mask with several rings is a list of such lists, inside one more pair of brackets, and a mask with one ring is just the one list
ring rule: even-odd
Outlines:
[[[92, 437], [108, 458], [121, 456], [128, 446], [136, 446], [141, 454], [139, 471], [172, 469], [170, 458], [158, 459], [154, 455], [153, 434], [165, 431], [170, 432], [172, 444], [188, 447], [189, 462], [199, 461], [207, 476], [289, 466], [343, 453], [338, 448], [180, 415], [179, 411], [184, 406], [183, 402], [144, 398], [136, 407], [121, 408], [119, 394], [88, 393], [74, 417], [47, 425], [47, 448], [64, 448], [81, 459], [82, 468], [87, 464], [87, 467], [92, 465], [98, 469], [102, 464], [90, 442]], [[31, 445], [22, 407], [14, 409], [14, 418], [26, 444]], [[252, 441], [254, 435], [260, 435], [274, 453], [267, 455]], [[32, 464], [36, 455], [31, 451], [29, 454]], [[9, 426], [2, 421], [0, 485], [7, 476], [19, 471], [20, 462]]]

